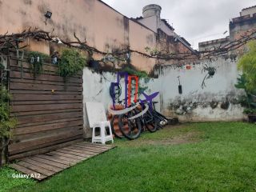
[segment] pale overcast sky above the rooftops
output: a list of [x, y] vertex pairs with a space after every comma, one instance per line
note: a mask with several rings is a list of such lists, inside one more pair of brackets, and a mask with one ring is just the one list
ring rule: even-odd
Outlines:
[[197, 49], [198, 42], [224, 38], [229, 33], [230, 18], [239, 17], [242, 8], [255, 6], [256, 0], [103, 0], [128, 18], [142, 16], [148, 4], [162, 6], [161, 18], [166, 18], [175, 32]]

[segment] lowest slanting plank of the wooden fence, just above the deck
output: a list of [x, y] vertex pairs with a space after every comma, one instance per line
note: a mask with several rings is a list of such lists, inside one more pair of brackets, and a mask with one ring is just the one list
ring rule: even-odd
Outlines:
[[27, 151], [27, 152], [24, 152], [24, 153], [21, 153], [21, 154], [9, 155], [9, 160], [12, 161], [12, 160], [18, 159], [18, 158], [25, 158], [25, 157], [28, 157], [28, 156], [31, 156], [31, 155], [34, 155], [34, 154], [44, 154], [44, 153], [46, 153], [50, 150], [56, 150], [56, 149], [59, 149], [59, 148], [64, 147], [64, 146], [70, 146], [71, 144], [74, 144], [76, 142], [81, 142], [81, 141], [82, 141], [82, 137], [71, 140], [71, 141], [68, 141], [68, 142], [65, 141], [65, 142], [62, 142], [62, 143], [54, 144], [52, 146], [46, 146], [46, 147], [43, 147], [43, 148], [37, 149], [37, 150], [30, 150], [30, 151]]

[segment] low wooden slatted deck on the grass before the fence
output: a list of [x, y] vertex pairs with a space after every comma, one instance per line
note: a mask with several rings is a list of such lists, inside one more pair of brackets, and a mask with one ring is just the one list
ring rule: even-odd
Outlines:
[[106, 146], [90, 142], [78, 142], [71, 146], [50, 151], [46, 154], [37, 154], [28, 158], [22, 158], [10, 167], [21, 171], [23, 174], [29, 174], [31, 178], [41, 181], [58, 172], [74, 166], [87, 158], [102, 154], [115, 146]]

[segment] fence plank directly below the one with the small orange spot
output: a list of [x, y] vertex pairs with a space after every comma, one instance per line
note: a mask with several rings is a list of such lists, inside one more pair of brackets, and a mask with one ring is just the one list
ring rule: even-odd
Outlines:
[[14, 94], [11, 101], [59, 101], [59, 100], [81, 100], [82, 94]]

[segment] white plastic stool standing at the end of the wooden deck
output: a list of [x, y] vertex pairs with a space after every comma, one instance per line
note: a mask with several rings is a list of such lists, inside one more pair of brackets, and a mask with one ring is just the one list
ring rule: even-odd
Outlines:
[[[99, 135], [95, 134], [95, 129], [97, 127], [100, 129]], [[106, 133], [106, 128], [109, 130], [109, 134]], [[112, 143], [114, 142], [110, 122], [94, 122], [92, 142], [101, 142], [102, 144], [105, 144], [109, 141]]]

